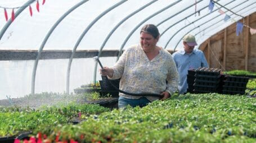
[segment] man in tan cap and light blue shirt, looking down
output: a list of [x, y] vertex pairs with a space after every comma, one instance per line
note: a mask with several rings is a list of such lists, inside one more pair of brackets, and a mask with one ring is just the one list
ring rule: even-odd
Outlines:
[[199, 67], [208, 67], [204, 53], [199, 49], [194, 49], [196, 39], [194, 35], [187, 34], [183, 38], [184, 50], [173, 53], [173, 59], [179, 72], [179, 94], [187, 91], [187, 71]]

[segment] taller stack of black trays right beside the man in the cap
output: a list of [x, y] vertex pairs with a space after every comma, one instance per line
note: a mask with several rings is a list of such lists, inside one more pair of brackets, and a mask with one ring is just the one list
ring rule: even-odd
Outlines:
[[221, 93], [221, 69], [200, 67], [196, 69], [194, 93]]

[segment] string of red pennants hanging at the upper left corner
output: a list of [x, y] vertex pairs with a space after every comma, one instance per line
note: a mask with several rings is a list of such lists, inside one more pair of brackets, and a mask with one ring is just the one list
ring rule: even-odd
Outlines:
[[[34, 2], [37, 2], [35, 4], [35, 7], [37, 8], [37, 11], [39, 12], [39, 7], [40, 7], [40, 4], [39, 4], [39, 1], [38, 0], [35, 0]], [[42, 5], [46, 2], [46, 0], [43, 0], [42, 1]], [[22, 8], [22, 7], [29, 7], [29, 13], [30, 13], [30, 16], [33, 16], [33, 11], [32, 11], [32, 7], [31, 7], [31, 4], [29, 4], [28, 6], [20, 6], [20, 7], [3, 7], [3, 6], [0, 6], [0, 8], [3, 8], [3, 12], [5, 14], [5, 19], [6, 21], [8, 21], [8, 12], [7, 12], [7, 9], [12, 9], [12, 12], [11, 12], [11, 21], [13, 22], [14, 19], [15, 19], [15, 9], [19, 9], [19, 8]]]

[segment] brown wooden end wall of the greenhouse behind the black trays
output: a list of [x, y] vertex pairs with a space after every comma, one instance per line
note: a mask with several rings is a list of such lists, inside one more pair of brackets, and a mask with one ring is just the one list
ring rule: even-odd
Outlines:
[[[244, 24], [256, 29], [256, 12], [245, 17]], [[236, 36], [236, 23], [232, 24], [204, 41], [199, 49], [210, 67], [256, 72], [256, 34], [251, 35], [248, 27]]]

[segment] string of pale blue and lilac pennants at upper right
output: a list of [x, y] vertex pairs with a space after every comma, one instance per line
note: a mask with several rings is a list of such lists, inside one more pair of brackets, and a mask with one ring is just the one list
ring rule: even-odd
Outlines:
[[[210, 3], [209, 3], [209, 10], [210, 12], [213, 11], [213, 8], [214, 8], [214, 3], [218, 4], [219, 6], [225, 8], [226, 10], [232, 12], [233, 14], [237, 15], [237, 16], [240, 16], [242, 17], [243, 19], [245, 18], [244, 16], [241, 16], [241, 15], [238, 15], [237, 13], [229, 10], [228, 8], [222, 6], [221, 4], [219, 4], [218, 2], [215, 2], [213, 0], [210, 0]], [[250, 29], [250, 34], [253, 35], [253, 34], [256, 34], [256, 29], [253, 29], [252, 27], [248, 26], [248, 25], [245, 25], [243, 22], [237, 22], [236, 20], [232, 19], [229, 15], [227, 15], [224, 11], [221, 10], [221, 8], [219, 8], [218, 6], [216, 6], [219, 10], [218, 12], [221, 14], [221, 15], [225, 15], [224, 17], [224, 21], [228, 21], [228, 20], [232, 20], [234, 22], [236, 22], [236, 35], [239, 36], [240, 33], [242, 33], [242, 28], [245, 26], [245, 27], [248, 27]]]

